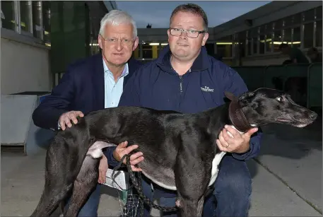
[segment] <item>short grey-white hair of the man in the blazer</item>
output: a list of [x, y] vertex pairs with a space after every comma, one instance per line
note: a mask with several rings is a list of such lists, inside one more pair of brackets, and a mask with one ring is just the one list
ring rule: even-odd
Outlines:
[[100, 22], [100, 35], [104, 35], [105, 25], [107, 25], [107, 23], [111, 23], [112, 25], [131, 24], [134, 27], [134, 38], [137, 37], [136, 22], [127, 12], [112, 10], [105, 14]]

